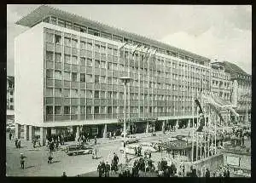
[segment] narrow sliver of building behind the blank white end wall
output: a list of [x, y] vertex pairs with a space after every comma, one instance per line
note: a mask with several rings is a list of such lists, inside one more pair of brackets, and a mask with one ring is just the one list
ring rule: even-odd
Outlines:
[[15, 119], [15, 77], [7, 76], [6, 89], [6, 116], [7, 120]]

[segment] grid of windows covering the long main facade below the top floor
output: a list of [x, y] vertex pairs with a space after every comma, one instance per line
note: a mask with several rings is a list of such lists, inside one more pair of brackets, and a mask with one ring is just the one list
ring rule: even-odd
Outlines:
[[127, 117], [191, 115], [192, 94], [209, 89], [209, 70], [185, 60], [146, 61], [129, 49], [119, 54], [115, 45], [46, 28], [44, 37], [45, 121], [123, 118], [119, 78], [129, 73]]

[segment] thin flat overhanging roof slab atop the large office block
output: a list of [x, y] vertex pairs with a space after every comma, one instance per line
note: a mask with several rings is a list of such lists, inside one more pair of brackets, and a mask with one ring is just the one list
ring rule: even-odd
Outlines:
[[187, 55], [189, 57], [193, 57], [197, 60], [202, 60], [202, 61], [207, 61], [207, 62], [211, 61], [207, 57], [204, 57], [204, 56], [201, 56], [201, 55], [198, 55], [198, 54], [193, 54], [193, 53], [191, 53], [189, 51], [186, 51], [186, 50], [183, 50], [183, 49], [177, 49], [175, 47], [172, 47], [169, 44], [161, 43], [159, 41], [150, 39], [148, 37], [140, 36], [136, 33], [123, 31], [121, 29], [114, 28], [112, 26], [102, 24], [98, 21], [89, 20], [89, 19], [86, 19], [86, 18], [84, 18], [82, 16], [79, 16], [77, 14], [68, 13], [68, 12], [63, 11], [61, 9], [55, 9], [55, 8], [47, 6], [47, 5], [42, 5], [42, 6], [38, 7], [38, 9], [33, 10], [30, 14], [26, 14], [26, 16], [24, 16], [20, 20], [18, 20], [16, 22], [16, 24], [20, 25], [20, 26], [32, 27], [36, 23], [38, 23], [38, 21], [43, 20], [45, 17], [48, 17], [48, 16], [55, 16], [55, 17], [63, 19], [63, 20], [72, 21], [72, 22], [77, 23], [81, 26], [89, 26], [90, 28], [97, 29], [99, 31], [106, 31], [108, 33], [112, 33], [112, 34], [115, 34], [117, 36], [130, 38], [134, 41], [139, 41], [139, 42], [142, 42], [142, 43], [151, 44], [151, 45], [154, 45], [156, 47], [159, 47], [160, 49], [166, 49], [166, 50], [170, 50], [170, 51], [177, 52], [177, 53], [180, 53], [180, 54], [184, 54], [184, 55]]

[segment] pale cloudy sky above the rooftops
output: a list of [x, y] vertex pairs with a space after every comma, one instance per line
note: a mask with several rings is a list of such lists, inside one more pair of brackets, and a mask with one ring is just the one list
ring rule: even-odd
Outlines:
[[[14, 76], [15, 37], [28, 28], [17, 20], [38, 8], [7, 5], [7, 73]], [[252, 73], [250, 5], [55, 5], [57, 9], [168, 43]]]

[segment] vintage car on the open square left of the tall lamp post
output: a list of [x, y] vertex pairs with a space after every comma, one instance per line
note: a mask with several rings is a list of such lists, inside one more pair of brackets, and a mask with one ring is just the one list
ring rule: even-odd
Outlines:
[[67, 146], [66, 153], [68, 156], [79, 155], [79, 154], [92, 154], [93, 148], [91, 146], [83, 145], [70, 145]]

